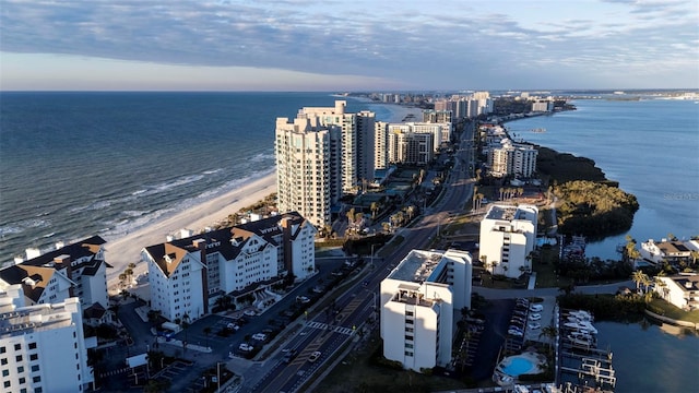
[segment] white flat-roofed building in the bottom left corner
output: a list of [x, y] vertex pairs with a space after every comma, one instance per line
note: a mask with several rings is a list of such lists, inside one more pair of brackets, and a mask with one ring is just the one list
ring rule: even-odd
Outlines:
[[78, 298], [23, 306], [21, 285], [0, 291], [3, 392], [73, 393], [94, 382]]

